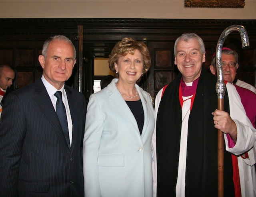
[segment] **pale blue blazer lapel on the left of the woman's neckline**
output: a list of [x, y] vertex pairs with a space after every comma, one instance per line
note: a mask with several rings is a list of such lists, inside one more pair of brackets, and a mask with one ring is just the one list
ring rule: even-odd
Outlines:
[[122, 95], [119, 93], [119, 91], [116, 89], [115, 83], [118, 81], [118, 79], [113, 79], [111, 83], [107, 87], [107, 94], [108, 98], [110, 99], [111, 102], [116, 106], [118, 111], [126, 118], [128, 121], [134, 126], [138, 134], [140, 134], [139, 128], [137, 121], [132, 114], [132, 111], [130, 110], [129, 106], [126, 104], [125, 100], [123, 99]]

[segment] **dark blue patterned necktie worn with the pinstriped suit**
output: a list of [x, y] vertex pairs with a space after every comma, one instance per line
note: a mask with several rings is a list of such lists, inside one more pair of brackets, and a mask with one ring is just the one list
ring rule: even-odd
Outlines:
[[62, 102], [62, 92], [57, 91], [54, 94], [54, 96], [57, 97], [56, 114], [60, 120], [60, 125], [62, 127], [62, 131], [64, 133], [66, 142], [68, 144], [68, 148], [70, 149], [69, 134], [68, 134], [68, 120], [67, 120], [65, 106], [64, 106], [64, 103]]

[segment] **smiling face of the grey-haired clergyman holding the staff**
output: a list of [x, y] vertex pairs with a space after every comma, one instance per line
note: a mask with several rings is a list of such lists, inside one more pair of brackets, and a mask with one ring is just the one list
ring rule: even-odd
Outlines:
[[197, 39], [178, 42], [174, 64], [177, 65], [184, 82], [192, 82], [200, 76], [203, 62], [205, 62], [205, 52], [201, 53]]

